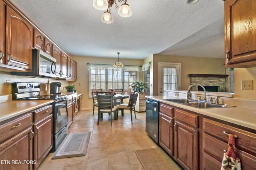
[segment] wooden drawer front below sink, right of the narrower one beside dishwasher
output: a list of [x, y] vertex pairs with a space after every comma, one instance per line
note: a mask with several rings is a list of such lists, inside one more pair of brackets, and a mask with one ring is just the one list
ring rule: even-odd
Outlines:
[[198, 127], [198, 115], [188, 113], [187, 111], [175, 109], [175, 117], [194, 127]]

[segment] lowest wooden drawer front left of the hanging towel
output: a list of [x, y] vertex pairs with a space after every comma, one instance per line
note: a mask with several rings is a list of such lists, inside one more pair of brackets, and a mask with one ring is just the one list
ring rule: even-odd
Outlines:
[[220, 170], [222, 163], [214, 159], [212, 156], [204, 153], [204, 170]]

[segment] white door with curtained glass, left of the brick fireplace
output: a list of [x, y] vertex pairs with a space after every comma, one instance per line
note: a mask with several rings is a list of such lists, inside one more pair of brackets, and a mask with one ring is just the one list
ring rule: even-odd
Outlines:
[[158, 63], [158, 95], [168, 96], [166, 90], [180, 90], [180, 63]]

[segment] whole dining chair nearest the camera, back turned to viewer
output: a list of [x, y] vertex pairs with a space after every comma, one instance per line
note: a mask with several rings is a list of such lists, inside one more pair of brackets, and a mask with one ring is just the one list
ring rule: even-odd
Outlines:
[[[110, 114], [110, 124], [112, 126], [112, 113], [116, 112], [116, 106], [113, 104], [113, 95], [112, 92], [96, 92], [97, 101], [98, 101], [98, 123], [100, 122], [100, 116], [103, 113]], [[116, 113], [114, 113], [114, 117], [116, 117]]]

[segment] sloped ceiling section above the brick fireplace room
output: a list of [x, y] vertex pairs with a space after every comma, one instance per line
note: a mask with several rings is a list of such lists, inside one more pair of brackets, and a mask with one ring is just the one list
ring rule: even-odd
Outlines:
[[159, 54], [224, 58], [224, 41], [224, 18], [221, 18]]

